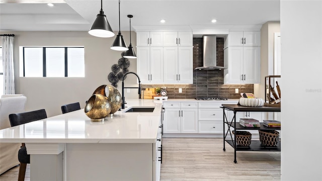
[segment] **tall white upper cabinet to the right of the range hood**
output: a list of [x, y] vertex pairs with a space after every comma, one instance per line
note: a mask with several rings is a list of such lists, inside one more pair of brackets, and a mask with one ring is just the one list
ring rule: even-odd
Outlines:
[[260, 83], [260, 31], [229, 31], [224, 49], [224, 83]]

